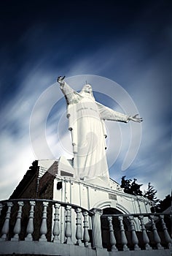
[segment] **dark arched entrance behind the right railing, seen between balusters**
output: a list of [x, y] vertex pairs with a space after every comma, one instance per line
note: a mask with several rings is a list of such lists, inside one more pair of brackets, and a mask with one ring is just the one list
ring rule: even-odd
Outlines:
[[[112, 216], [113, 214], [120, 214], [122, 215], [123, 213], [116, 208], [104, 208], [103, 209], [103, 214], [101, 216], [101, 236], [102, 236], [102, 244], [103, 248], [106, 248], [108, 251], [111, 250], [111, 245], [109, 241], [109, 222], [107, 217], [105, 217], [105, 214], [109, 214], [109, 216]], [[129, 221], [127, 218], [123, 219], [123, 224], [125, 230], [130, 229]], [[117, 240], [117, 247], [118, 249], [122, 249], [122, 244], [121, 244], [121, 238], [120, 238], [120, 222], [118, 220], [118, 216], [114, 216], [112, 218], [112, 225], [114, 229], [114, 236]]]

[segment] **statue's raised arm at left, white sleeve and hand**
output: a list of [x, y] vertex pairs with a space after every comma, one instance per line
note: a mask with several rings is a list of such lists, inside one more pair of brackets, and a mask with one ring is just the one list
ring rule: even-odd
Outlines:
[[81, 96], [77, 93], [77, 91], [74, 91], [65, 81], [65, 76], [63, 78], [61, 76], [58, 77], [57, 82], [60, 84], [60, 89], [63, 92], [67, 104], [74, 104], [79, 101]]

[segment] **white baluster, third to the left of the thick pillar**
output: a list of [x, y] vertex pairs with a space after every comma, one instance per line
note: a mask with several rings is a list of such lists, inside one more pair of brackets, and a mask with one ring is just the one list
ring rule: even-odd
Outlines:
[[66, 244], [73, 244], [71, 241], [71, 206], [66, 206], [66, 230], [65, 230], [65, 236], [66, 236]]

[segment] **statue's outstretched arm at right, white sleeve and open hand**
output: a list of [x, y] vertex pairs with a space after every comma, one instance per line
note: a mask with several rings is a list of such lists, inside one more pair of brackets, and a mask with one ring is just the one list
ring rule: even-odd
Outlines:
[[137, 117], [138, 114], [135, 115], [135, 116], [128, 116], [128, 115], [125, 115], [123, 113], [114, 111], [111, 108], [108, 108], [108, 107], [106, 107], [104, 105], [101, 105], [98, 102], [96, 102], [96, 103], [98, 105], [98, 110], [99, 110], [100, 116], [104, 120], [121, 121], [121, 122], [125, 122], [125, 123], [128, 123], [128, 121], [136, 121], [138, 123], [143, 121], [142, 118], [138, 118]]

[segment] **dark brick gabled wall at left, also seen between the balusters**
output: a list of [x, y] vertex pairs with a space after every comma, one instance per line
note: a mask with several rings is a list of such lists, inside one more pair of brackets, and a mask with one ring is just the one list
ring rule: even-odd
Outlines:
[[[12, 195], [9, 197], [10, 199], [48, 199], [52, 200], [53, 196], [53, 184], [55, 179], [55, 173], [57, 173], [58, 170], [58, 162], [54, 162], [53, 165], [50, 167], [50, 169], [44, 173], [44, 175], [39, 179], [39, 166], [38, 161], [34, 161], [32, 166], [29, 167], [29, 170], [27, 170], [25, 176], [23, 176], [23, 179], [20, 181], [20, 183], [17, 185], [14, 192], [12, 192]], [[13, 206], [12, 216], [10, 219], [10, 232], [9, 232], [9, 239], [12, 238], [13, 229], [15, 227], [15, 221], [16, 221], [16, 215], [17, 215], [18, 206], [15, 204]], [[34, 239], [39, 240], [40, 237], [40, 227], [42, 223], [42, 202], [36, 203], [36, 206], [34, 208]], [[2, 227], [4, 223], [5, 213], [7, 211], [7, 208], [4, 208], [4, 211], [2, 214], [4, 215], [1, 218], [0, 227]], [[23, 213], [22, 213], [22, 230], [20, 233], [20, 240], [24, 240], [26, 237], [26, 228], [28, 225], [28, 216], [30, 211], [30, 205], [29, 202], [25, 203], [23, 206]], [[51, 240], [51, 229], [52, 229], [52, 206], [49, 206], [47, 208], [47, 227], [49, 230], [49, 233], [47, 233], [47, 239], [48, 241]]]

